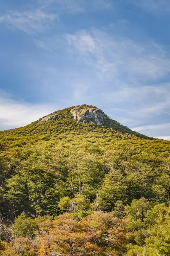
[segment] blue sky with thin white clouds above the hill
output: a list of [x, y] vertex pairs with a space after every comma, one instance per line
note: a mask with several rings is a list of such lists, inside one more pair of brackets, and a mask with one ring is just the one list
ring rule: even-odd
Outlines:
[[170, 0], [0, 0], [0, 130], [88, 104], [170, 140]]

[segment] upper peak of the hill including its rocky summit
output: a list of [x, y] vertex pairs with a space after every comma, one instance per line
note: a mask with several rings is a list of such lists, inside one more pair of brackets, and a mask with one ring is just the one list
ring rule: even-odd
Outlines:
[[[50, 122], [48, 122], [50, 121]], [[100, 125], [97, 126], [96, 125]], [[81, 127], [81, 128], [80, 128]], [[79, 105], [63, 110], [54, 111], [48, 116], [40, 118], [25, 127], [8, 131], [0, 131], [1, 135], [20, 134], [24, 136], [34, 134], [61, 134], [63, 132], [83, 132], [83, 130], [106, 131], [106, 128], [113, 128], [110, 131], [121, 131], [122, 133], [134, 134], [137, 137], [148, 139], [147, 136], [132, 131], [119, 122], [109, 118], [103, 111], [92, 105]]]

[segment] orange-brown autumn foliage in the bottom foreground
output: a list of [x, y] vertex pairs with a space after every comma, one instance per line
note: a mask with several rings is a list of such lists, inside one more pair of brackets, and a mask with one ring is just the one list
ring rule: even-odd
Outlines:
[[[125, 252], [127, 220], [94, 212], [78, 221], [71, 213], [37, 218], [34, 239], [16, 238], [4, 256], [117, 256]], [[121, 253], [121, 254], [120, 254]]]

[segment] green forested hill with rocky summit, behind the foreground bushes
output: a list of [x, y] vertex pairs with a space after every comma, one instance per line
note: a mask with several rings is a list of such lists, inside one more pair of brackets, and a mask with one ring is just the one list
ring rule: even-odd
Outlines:
[[79, 194], [105, 211], [142, 196], [167, 202], [169, 153], [169, 141], [136, 134], [94, 106], [56, 111], [0, 132], [1, 214], [58, 215], [59, 201]]

